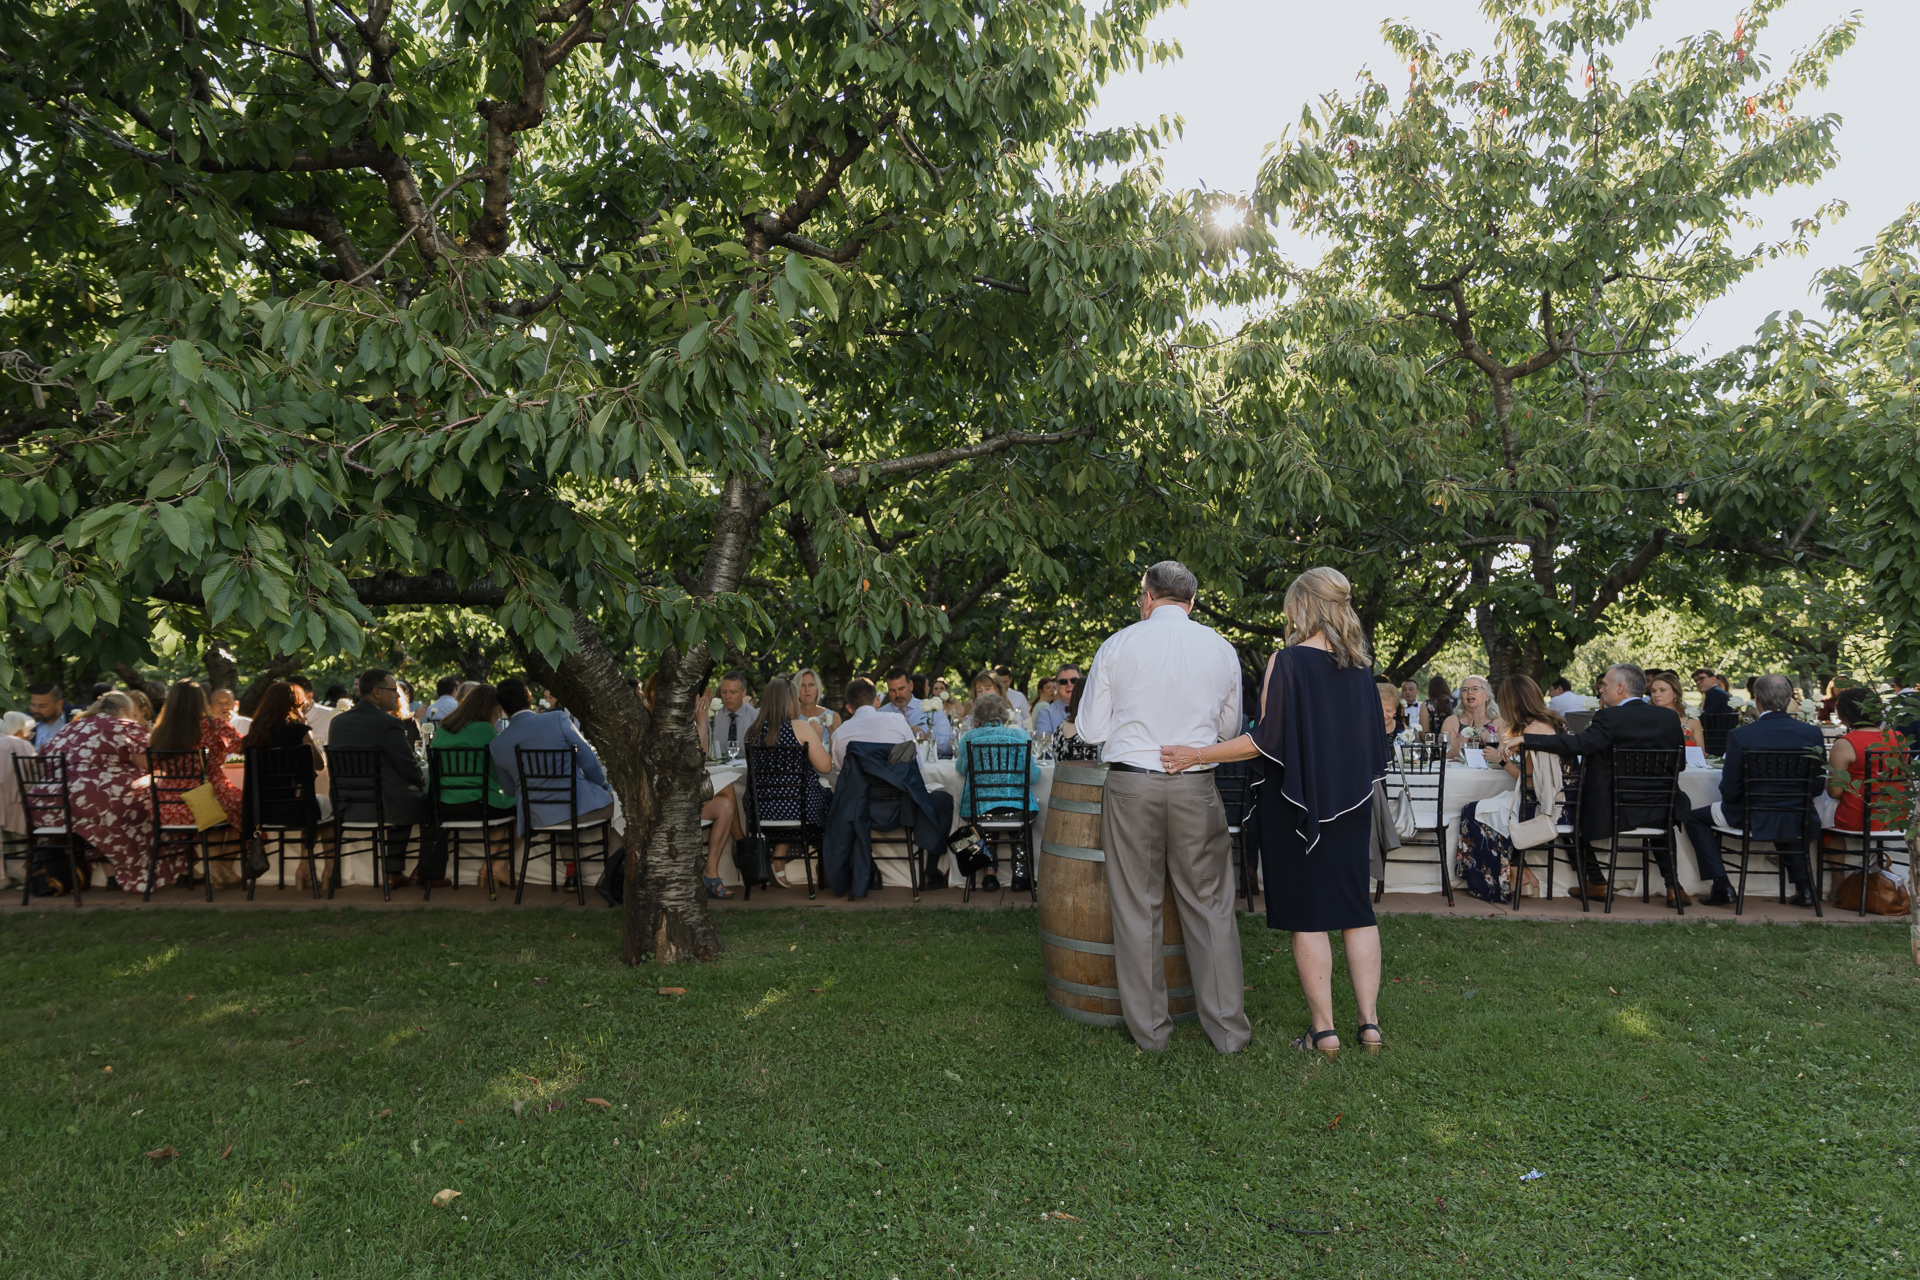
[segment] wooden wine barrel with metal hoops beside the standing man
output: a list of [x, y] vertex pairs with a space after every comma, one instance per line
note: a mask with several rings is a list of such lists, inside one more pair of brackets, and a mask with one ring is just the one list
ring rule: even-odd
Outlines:
[[[1121, 1027], [1119, 986], [1114, 975], [1114, 908], [1106, 890], [1106, 854], [1100, 850], [1100, 798], [1104, 764], [1062, 764], [1046, 802], [1041, 835], [1041, 958], [1046, 1000], [1054, 1011], [1094, 1027]], [[1167, 967], [1167, 1011], [1187, 1023], [1194, 1009], [1192, 975], [1181, 917], [1167, 898], [1160, 954]]]

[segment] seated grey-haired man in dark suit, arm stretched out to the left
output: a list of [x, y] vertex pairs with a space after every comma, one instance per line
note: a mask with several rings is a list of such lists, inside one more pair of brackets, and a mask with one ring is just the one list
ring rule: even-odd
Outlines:
[[[1630, 662], [1609, 666], [1599, 681], [1599, 710], [1580, 733], [1528, 733], [1528, 750], [1549, 750], [1555, 756], [1580, 756], [1580, 841], [1586, 844], [1588, 898], [1603, 896], [1607, 881], [1599, 873], [1592, 846], [1613, 841], [1613, 752], [1670, 750], [1674, 771], [1686, 764], [1686, 729], [1670, 710], [1647, 702], [1647, 674]], [[1620, 827], [1655, 827], [1667, 831], [1678, 825], [1678, 814], [1649, 808], [1622, 808]], [[1661, 856], [1661, 875], [1667, 877], [1667, 904], [1686, 906], [1686, 890], [1674, 883], [1672, 850]], [[1582, 890], [1576, 889], [1574, 896]]]

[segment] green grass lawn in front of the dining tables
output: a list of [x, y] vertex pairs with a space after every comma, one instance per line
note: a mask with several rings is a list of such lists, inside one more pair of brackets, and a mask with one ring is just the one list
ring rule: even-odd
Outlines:
[[1050, 1013], [1031, 912], [10, 915], [0, 1274], [1920, 1274], [1903, 929], [1382, 927], [1327, 1063], [1252, 917], [1221, 1059]]

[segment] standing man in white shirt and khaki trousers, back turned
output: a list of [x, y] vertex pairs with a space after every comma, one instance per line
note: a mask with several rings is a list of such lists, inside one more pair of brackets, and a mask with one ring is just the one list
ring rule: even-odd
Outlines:
[[1140, 622], [1100, 645], [1077, 720], [1081, 737], [1106, 745], [1100, 844], [1119, 1009], [1133, 1042], [1156, 1054], [1173, 1034], [1160, 960], [1169, 885], [1200, 1027], [1221, 1054], [1254, 1038], [1219, 787], [1212, 770], [1167, 773], [1160, 764], [1162, 743], [1212, 747], [1240, 733], [1240, 660], [1217, 631], [1188, 618], [1198, 585], [1179, 560], [1146, 570]]

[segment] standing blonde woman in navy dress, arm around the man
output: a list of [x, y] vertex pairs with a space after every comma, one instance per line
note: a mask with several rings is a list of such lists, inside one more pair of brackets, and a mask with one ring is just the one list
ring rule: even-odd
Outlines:
[[1332, 1057], [1332, 942], [1342, 933], [1359, 1009], [1359, 1042], [1382, 1038], [1380, 929], [1367, 900], [1373, 783], [1386, 775], [1373, 656], [1354, 614], [1354, 587], [1332, 568], [1309, 568], [1286, 589], [1286, 649], [1267, 662], [1260, 722], [1217, 747], [1164, 747], [1169, 771], [1261, 758], [1260, 804], [1267, 925], [1294, 935], [1294, 967], [1311, 1025], [1296, 1050]]

